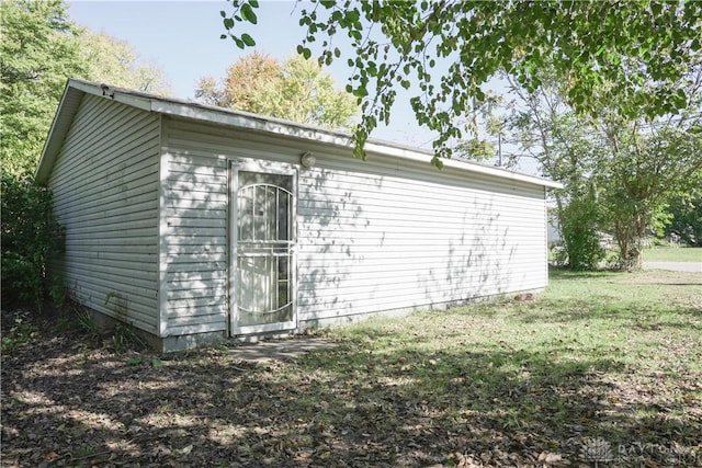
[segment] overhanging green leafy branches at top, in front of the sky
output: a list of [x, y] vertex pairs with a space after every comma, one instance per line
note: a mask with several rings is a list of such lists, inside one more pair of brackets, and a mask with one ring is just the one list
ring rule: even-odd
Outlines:
[[[253, 46], [240, 23], [258, 23], [257, 0], [231, 0], [222, 12], [227, 34]], [[297, 48], [330, 64], [346, 59], [347, 90], [362, 105], [356, 156], [378, 122], [388, 122], [397, 87], [410, 99], [417, 122], [439, 133], [437, 157], [463, 137], [461, 121], [485, 99], [484, 85], [500, 71], [526, 89], [548, 65], [581, 112], [597, 99], [616, 103], [623, 115], [663, 115], [683, 109], [688, 95], [675, 83], [701, 49], [702, 2], [484, 2], [320, 0], [299, 11], [305, 35]], [[317, 45], [319, 45], [317, 47]], [[609, 95], [593, 96], [602, 81]], [[412, 88], [415, 89], [415, 88]]]

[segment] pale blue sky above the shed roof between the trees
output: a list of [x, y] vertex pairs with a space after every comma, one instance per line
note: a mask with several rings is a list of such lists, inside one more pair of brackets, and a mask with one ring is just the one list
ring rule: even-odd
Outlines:
[[[69, 15], [76, 23], [97, 33], [128, 42], [145, 60], [156, 64], [167, 76], [173, 98], [194, 99], [197, 80], [204, 76], [220, 79], [228, 66], [252, 49], [240, 50], [225, 33], [219, 12], [231, 11], [220, 1], [69, 1]], [[304, 30], [297, 24], [299, 5], [290, 0], [262, 0], [258, 25], [249, 32], [256, 49], [285, 59], [295, 54]], [[343, 89], [349, 72], [346, 62], [328, 69], [338, 88]], [[388, 141], [431, 148], [433, 134], [420, 128], [400, 94], [393, 107], [390, 125], [372, 135]], [[405, 98], [405, 100], [403, 100]]]

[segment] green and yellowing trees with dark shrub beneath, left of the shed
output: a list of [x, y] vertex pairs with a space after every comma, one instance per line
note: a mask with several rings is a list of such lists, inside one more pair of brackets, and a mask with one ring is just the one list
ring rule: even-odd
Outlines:
[[163, 72], [134, 48], [70, 21], [60, 0], [0, 2], [0, 176], [2, 303], [42, 305], [63, 295], [47, 282], [60, 255], [60, 227], [50, 193], [34, 171], [66, 80], [80, 78], [168, 93]]

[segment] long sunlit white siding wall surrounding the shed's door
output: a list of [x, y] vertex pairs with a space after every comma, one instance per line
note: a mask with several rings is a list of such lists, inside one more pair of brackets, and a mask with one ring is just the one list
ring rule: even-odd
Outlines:
[[[161, 251], [170, 334], [227, 329], [230, 158], [297, 164], [297, 304], [305, 322], [542, 288], [544, 189], [321, 145], [165, 119]], [[332, 152], [330, 152], [332, 151]]]

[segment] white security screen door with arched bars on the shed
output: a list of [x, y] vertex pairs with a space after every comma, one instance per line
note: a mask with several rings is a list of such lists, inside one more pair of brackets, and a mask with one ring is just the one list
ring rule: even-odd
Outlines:
[[291, 330], [297, 326], [294, 173], [245, 169], [234, 174], [233, 334]]

